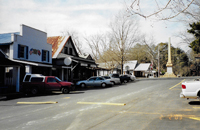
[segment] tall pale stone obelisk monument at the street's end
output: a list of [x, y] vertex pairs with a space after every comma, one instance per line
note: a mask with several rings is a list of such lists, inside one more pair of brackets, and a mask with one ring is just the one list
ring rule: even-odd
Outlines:
[[176, 77], [176, 75], [174, 75], [173, 70], [172, 70], [172, 61], [171, 61], [171, 42], [170, 42], [170, 38], [169, 38], [169, 43], [168, 43], [168, 62], [166, 64], [167, 66], [167, 72], [165, 73], [165, 75], [163, 77]]

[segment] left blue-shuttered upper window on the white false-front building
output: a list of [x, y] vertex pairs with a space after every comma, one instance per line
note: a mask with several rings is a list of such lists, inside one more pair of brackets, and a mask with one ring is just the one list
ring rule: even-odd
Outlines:
[[18, 58], [28, 59], [28, 46], [18, 44]]

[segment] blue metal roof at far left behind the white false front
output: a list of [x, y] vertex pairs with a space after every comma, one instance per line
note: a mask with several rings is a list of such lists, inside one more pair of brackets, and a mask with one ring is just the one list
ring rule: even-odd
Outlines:
[[20, 32], [13, 32], [13, 33], [4, 33], [0, 34], [0, 45], [6, 45], [6, 44], [11, 44], [11, 35], [12, 34], [17, 34], [19, 35]]

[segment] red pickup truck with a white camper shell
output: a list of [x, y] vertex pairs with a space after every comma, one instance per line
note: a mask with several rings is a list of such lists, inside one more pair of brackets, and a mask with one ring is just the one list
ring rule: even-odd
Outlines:
[[22, 89], [24, 92], [31, 92], [36, 95], [39, 92], [45, 91], [62, 91], [62, 93], [69, 93], [75, 89], [71, 82], [61, 81], [55, 76], [43, 76], [41, 74], [26, 74], [23, 79]]

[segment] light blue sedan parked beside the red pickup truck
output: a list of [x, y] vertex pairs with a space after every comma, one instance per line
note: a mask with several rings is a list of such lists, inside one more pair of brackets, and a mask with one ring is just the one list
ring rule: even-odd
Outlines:
[[80, 86], [82, 88], [85, 88], [86, 86], [101, 86], [101, 87], [106, 87], [106, 86], [112, 86], [113, 82], [111, 82], [110, 79], [105, 79], [103, 77], [90, 77], [88, 80], [83, 80], [83, 81], [78, 81], [76, 83], [77, 86]]

